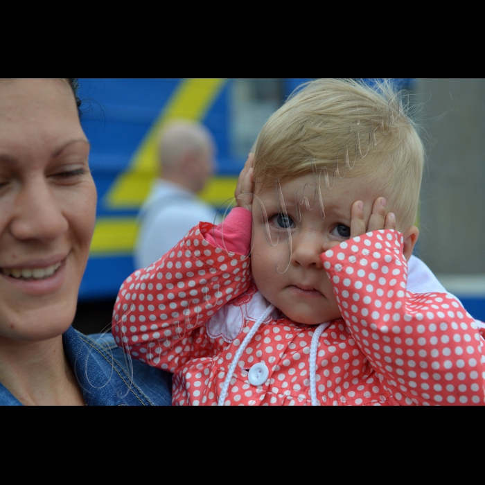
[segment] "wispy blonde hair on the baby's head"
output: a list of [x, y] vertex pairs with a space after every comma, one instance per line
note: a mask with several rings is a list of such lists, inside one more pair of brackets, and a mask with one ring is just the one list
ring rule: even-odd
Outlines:
[[409, 103], [389, 80], [307, 82], [270, 116], [252, 151], [256, 193], [315, 168], [322, 191], [357, 176], [387, 198], [399, 231], [414, 224], [424, 148]]

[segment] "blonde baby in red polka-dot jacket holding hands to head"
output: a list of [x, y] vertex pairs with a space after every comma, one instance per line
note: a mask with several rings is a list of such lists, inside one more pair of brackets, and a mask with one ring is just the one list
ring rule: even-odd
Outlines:
[[123, 283], [118, 345], [175, 405], [483, 405], [477, 322], [407, 288], [424, 156], [391, 87], [312, 81], [253, 152], [224, 222]]

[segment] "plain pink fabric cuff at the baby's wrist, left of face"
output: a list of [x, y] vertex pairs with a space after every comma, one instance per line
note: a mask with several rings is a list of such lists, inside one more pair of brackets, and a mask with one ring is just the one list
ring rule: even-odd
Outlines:
[[224, 222], [213, 227], [213, 231], [204, 234], [205, 240], [210, 245], [227, 249], [229, 252], [247, 254], [251, 244], [252, 220], [251, 211], [234, 207]]

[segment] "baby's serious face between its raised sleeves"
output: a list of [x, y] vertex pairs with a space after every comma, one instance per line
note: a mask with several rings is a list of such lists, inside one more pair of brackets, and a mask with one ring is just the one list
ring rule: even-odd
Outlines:
[[[283, 215], [281, 204], [280, 208], [278, 206], [274, 187], [256, 193], [267, 211], [272, 241], [275, 243], [279, 238], [279, 242], [274, 247], [267, 243], [264, 220], [254, 198], [251, 263], [254, 281], [267, 301], [293, 321], [316, 325], [341, 316], [333, 286], [319, 258], [324, 250], [330, 249], [324, 245], [349, 239], [351, 206], [356, 200], [364, 202], [367, 226], [373, 202], [382, 194], [373, 193], [369, 186], [359, 183], [358, 177], [336, 179], [331, 191], [322, 183], [325, 218], [321, 217], [317, 195], [315, 206], [311, 210], [306, 209], [305, 203], [299, 205], [299, 220], [295, 194], [298, 192], [301, 199], [303, 187], [307, 183], [305, 196], [308, 197], [311, 208], [315, 194], [315, 182], [311, 173], [281, 184], [288, 218]], [[291, 244], [287, 228], [290, 229]], [[284, 272], [287, 266], [288, 270]]]

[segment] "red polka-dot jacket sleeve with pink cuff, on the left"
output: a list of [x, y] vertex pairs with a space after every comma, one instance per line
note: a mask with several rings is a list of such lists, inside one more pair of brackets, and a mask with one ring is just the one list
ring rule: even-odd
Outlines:
[[200, 349], [202, 326], [249, 286], [249, 258], [211, 245], [200, 222], [159, 261], [121, 285], [112, 332], [133, 358], [175, 372]]

